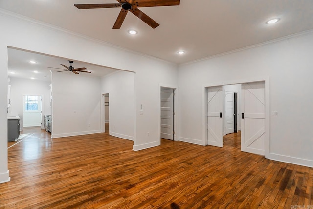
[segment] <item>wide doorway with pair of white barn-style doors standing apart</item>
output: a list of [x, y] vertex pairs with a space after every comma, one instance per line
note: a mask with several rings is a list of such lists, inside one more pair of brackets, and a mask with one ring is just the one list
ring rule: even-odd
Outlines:
[[265, 81], [207, 87], [206, 108], [207, 145], [223, 147], [227, 134], [237, 142], [240, 134], [241, 151], [265, 155]]

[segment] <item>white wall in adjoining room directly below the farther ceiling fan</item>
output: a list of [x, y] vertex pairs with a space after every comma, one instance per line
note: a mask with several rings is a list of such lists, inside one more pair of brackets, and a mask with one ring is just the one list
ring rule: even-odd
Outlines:
[[101, 132], [101, 79], [52, 73], [52, 138]]

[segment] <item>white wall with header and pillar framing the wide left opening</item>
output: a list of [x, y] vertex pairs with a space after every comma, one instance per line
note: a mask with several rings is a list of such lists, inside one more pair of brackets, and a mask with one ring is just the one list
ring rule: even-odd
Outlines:
[[[15, 47], [47, 55], [79, 60], [115, 69], [134, 71], [135, 150], [158, 145], [159, 83], [177, 85], [177, 65], [120, 47], [73, 34], [46, 23], [22, 19], [0, 10], [0, 182], [8, 181], [7, 171], [7, 47]], [[122, 58], [122, 59], [121, 59]], [[146, 110], [139, 117], [140, 104]], [[53, 111], [52, 111], [53, 114]], [[55, 118], [54, 118], [55, 119]], [[57, 127], [57, 133], [71, 132]], [[146, 133], [150, 131], [150, 136]]]

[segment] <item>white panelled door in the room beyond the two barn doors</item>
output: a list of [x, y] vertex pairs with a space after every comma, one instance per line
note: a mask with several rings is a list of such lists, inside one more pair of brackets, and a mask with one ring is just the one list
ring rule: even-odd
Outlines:
[[234, 92], [225, 91], [226, 134], [235, 132]]

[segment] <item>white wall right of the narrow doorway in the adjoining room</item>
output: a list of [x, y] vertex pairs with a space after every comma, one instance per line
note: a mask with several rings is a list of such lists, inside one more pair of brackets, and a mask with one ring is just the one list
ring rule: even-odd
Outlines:
[[123, 139], [134, 140], [134, 73], [119, 71], [102, 78], [101, 93], [109, 93], [109, 134]]

